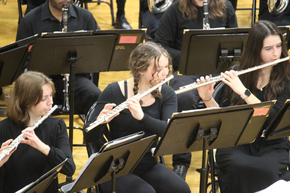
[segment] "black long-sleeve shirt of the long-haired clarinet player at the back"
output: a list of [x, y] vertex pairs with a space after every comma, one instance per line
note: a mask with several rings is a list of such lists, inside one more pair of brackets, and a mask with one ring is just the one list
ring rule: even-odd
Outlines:
[[[197, 7], [197, 18], [195, 20], [189, 20], [183, 18], [178, 5], [179, 1], [176, 1], [165, 11], [154, 39], [155, 42], [160, 43], [172, 56], [173, 68], [175, 70], [179, 65], [183, 31], [186, 29], [201, 30], [203, 28], [203, 7]], [[238, 27], [235, 10], [229, 1], [226, 1], [226, 10], [224, 13], [226, 17], [222, 20], [209, 18], [211, 28]]]

